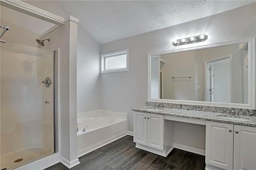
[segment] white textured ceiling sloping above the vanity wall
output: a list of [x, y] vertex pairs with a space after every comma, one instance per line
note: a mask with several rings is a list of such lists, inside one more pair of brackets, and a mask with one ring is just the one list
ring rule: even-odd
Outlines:
[[99, 43], [218, 14], [256, 1], [56, 1]]

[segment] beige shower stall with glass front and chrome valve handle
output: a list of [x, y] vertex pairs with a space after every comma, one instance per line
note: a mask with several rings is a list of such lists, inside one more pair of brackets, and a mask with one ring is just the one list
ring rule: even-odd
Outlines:
[[0, 43], [0, 169], [56, 152], [57, 51]]

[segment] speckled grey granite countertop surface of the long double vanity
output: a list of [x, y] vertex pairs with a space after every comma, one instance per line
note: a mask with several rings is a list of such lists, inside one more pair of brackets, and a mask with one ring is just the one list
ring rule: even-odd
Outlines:
[[[206, 121], [214, 121], [221, 123], [230, 123], [234, 125], [244, 125], [250, 127], [256, 127], [256, 116], [247, 116], [247, 115], [227, 115], [225, 113], [214, 113], [214, 112], [205, 112], [205, 111], [193, 111], [193, 110], [184, 110], [184, 109], [172, 109], [164, 107], [137, 107], [132, 109], [133, 111], [144, 112], [144, 113], [154, 113], [158, 115], [170, 115], [176, 117], [186, 117], [191, 119], [200, 119]], [[248, 121], [235, 121], [223, 119], [221, 117], [236, 117], [247, 119]]]

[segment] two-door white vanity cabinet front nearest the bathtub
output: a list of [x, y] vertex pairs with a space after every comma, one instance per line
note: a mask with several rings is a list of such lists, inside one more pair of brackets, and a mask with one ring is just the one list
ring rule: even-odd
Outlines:
[[133, 141], [164, 150], [164, 115], [134, 111]]

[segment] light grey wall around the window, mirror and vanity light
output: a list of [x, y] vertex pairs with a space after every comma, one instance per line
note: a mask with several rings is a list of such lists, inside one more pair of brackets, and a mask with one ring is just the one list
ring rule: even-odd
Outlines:
[[[101, 75], [101, 109], [128, 113], [128, 130], [133, 131], [134, 107], [147, 101], [147, 54], [198, 45], [228, 42], [256, 36], [256, 4], [106, 43], [101, 53], [129, 48], [129, 71]], [[173, 46], [172, 40], [206, 34], [205, 42]]]

